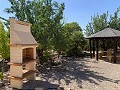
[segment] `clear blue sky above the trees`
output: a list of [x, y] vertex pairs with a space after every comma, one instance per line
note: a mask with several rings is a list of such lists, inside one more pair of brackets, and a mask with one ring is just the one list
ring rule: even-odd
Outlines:
[[[64, 17], [66, 23], [77, 22], [82, 28], [85, 28], [91, 20], [91, 16], [102, 14], [109, 11], [114, 14], [120, 6], [120, 0], [55, 0], [59, 3], [65, 3]], [[5, 13], [4, 8], [10, 7], [8, 0], [0, 0], [0, 16], [8, 19], [11, 15]]]

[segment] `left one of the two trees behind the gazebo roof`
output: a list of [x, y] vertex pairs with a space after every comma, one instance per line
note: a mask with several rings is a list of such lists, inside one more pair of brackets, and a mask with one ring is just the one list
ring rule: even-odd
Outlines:
[[108, 26], [108, 13], [103, 13], [102, 15], [95, 15], [91, 17], [91, 22], [86, 26], [85, 33], [87, 36], [94, 34], [100, 30], [105, 29]]

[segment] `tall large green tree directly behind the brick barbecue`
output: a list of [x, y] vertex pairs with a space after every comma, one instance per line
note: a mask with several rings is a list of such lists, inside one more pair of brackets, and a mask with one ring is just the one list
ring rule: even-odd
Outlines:
[[64, 40], [62, 35], [62, 19], [64, 3], [52, 0], [9, 0], [10, 8], [7, 13], [14, 14], [14, 18], [32, 24], [32, 34], [39, 43], [37, 54], [44, 56], [49, 50], [62, 51]]

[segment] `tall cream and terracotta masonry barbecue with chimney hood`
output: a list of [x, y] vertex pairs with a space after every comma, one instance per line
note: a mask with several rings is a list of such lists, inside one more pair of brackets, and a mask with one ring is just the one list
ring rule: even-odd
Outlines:
[[10, 18], [10, 85], [22, 89], [23, 79], [35, 80], [37, 42], [31, 24]]

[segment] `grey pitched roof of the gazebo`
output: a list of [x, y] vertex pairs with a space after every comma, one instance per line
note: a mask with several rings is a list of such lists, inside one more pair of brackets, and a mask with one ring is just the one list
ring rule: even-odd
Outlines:
[[106, 28], [102, 31], [92, 34], [87, 38], [90, 39], [90, 38], [108, 38], [108, 37], [120, 37], [120, 31], [112, 28]]

